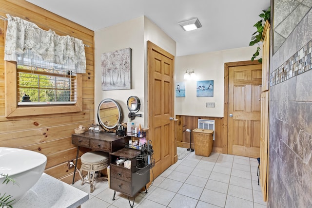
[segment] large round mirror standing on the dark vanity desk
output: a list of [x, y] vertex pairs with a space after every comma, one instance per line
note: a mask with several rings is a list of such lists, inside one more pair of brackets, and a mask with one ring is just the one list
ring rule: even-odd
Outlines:
[[114, 129], [121, 120], [119, 104], [110, 98], [104, 99], [98, 105], [98, 123], [104, 129]]

